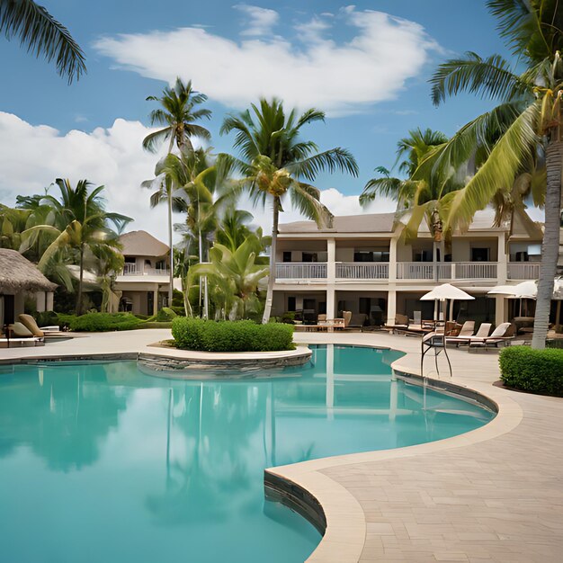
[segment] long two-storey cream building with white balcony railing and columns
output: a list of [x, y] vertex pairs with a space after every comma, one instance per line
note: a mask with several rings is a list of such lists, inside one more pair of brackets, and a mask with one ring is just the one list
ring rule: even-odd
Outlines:
[[449, 282], [476, 297], [457, 301], [455, 317], [498, 325], [520, 313], [518, 303], [487, 291], [538, 279], [542, 228], [525, 213], [515, 214], [511, 228], [495, 227], [492, 211], [478, 212], [466, 232], [453, 233], [436, 263], [424, 223], [411, 244], [402, 230], [394, 213], [335, 217], [333, 228], [324, 229], [314, 221], [281, 224], [273, 315], [297, 311], [314, 322], [347, 310], [371, 325], [394, 324], [396, 315], [412, 318], [419, 310], [433, 318], [433, 302], [419, 299]]

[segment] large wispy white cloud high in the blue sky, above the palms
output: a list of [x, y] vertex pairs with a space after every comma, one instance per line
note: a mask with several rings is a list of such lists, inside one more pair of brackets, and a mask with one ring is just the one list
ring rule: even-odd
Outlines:
[[[288, 105], [314, 106], [332, 115], [362, 112], [395, 98], [440, 49], [416, 22], [353, 6], [334, 18], [318, 16], [300, 24], [293, 43], [289, 32], [284, 38], [261, 35], [277, 21], [273, 10], [238, 9], [254, 14], [242, 31], [252, 36], [246, 40], [192, 26], [104, 37], [94, 48], [142, 76], [169, 83], [178, 74], [191, 78], [198, 90], [228, 107], [276, 95]], [[342, 26], [353, 32], [351, 40], [325, 38]]]

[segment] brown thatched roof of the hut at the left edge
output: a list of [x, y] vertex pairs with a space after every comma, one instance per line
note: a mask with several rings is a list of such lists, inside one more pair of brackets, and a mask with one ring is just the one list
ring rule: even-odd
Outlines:
[[54, 291], [56, 287], [19, 252], [0, 248], [0, 293]]

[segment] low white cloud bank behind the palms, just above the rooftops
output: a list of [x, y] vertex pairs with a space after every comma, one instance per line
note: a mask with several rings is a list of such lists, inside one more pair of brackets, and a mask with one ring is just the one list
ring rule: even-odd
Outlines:
[[[131, 230], [145, 229], [165, 241], [165, 206], [151, 210], [150, 191], [140, 187], [143, 180], [153, 176], [158, 159], [141, 147], [150, 131], [139, 121], [118, 119], [108, 129], [97, 128], [89, 133], [71, 130], [62, 135], [47, 125], [34, 126], [11, 113], [0, 112], [0, 202], [12, 206], [16, 195], [41, 193], [57, 177], [69, 178], [72, 183], [87, 178], [95, 185], [106, 186], [108, 209], [135, 219]], [[338, 215], [382, 212], [395, 206], [381, 199], [362, 210], [357, 195], [344, 195], [335, 188], [323, 190], [321, 201]], [[255, 224], [264, 230], [272, 228], [271, 209], [254, 208], [248, 200], [240, 201], [239, 208], [251, 211]], [[288, 201], [281, 221], [299, 219], [299, 212], [292, 210]]]

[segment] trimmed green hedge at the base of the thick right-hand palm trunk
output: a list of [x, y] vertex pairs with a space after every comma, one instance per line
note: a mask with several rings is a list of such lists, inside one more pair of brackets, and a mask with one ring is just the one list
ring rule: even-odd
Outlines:
[[563, 397], [563, 350], [509, 346], [499, 362], [507, 387]]

